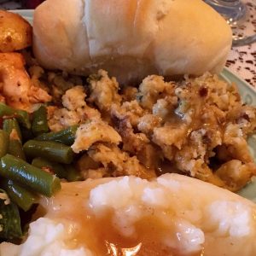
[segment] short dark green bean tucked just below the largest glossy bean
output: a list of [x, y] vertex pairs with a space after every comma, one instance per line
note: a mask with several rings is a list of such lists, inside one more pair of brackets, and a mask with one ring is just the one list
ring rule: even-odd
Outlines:
[[19, 184], [14, 183], [12, 180], [3, 179], [2, 186], [6, 190], [11, 201], [23, 209], [28, 211], [32, 205], [36, 202], [37, 196], [27, 189], [20, 187]]

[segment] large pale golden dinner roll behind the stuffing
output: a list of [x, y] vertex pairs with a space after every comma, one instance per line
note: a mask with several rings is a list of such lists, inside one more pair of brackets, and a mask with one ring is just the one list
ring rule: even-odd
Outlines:
[[35, 10], [33, 50], [49, 69], [121, 84], [148, 74], [218, 73], [230, 26], [201, 0], [47, 0]]

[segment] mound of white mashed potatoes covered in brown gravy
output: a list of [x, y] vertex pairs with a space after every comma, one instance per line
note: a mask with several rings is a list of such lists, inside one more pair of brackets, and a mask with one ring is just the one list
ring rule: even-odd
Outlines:
[[252, 256], [255, 212], [239, 195], [178, 174], [63, 183], [40, 201], [26, 241], [2, 243], [0, 253]]

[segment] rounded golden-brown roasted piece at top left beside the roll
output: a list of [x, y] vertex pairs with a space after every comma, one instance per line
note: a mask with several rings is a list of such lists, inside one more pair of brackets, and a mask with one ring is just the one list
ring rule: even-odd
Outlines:
[[31, 45], [32, 26], [20, 15], [0, 10], [0, 52], [13, 52]]

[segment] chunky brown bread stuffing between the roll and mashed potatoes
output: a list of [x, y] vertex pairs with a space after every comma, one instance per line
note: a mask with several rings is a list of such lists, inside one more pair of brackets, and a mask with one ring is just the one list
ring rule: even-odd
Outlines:
[[[52, 131], [80, 125], [74, 152], [88, 150], [94, 152], [93, 158], [101, 155], [98, 166], [80, 168], [84, 177], [97, 177], [95, 170], [98, 177], [139, 175], [148, 168], [237, 191], [255, 174], [247, 137], [256, 128], [256, 109], [242, 104], [234, 84], [206, 73], [178, 82], [151, 75], [138, 88], [119, 88], [116, 79], [102, 70], [90, 75], [87, 83], [66, 90], [62, 108], [48, 108]], [[111, 143], [115, 149], [98, 143]], [[102, 155], [112, 155], [113, 160], [103, 160]], [[122, 164], [128, 161], [125, 157], [133, 171]], [[114, 172], [109, 171], [110, 162], [116, 166]], [[143, 172], [136, 171], [141, 168]]]

